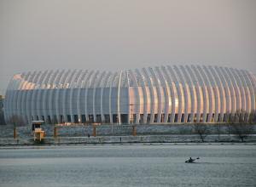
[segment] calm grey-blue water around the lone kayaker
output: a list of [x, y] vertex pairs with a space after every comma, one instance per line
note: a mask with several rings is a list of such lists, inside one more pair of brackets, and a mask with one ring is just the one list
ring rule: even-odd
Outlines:
[[[189, 156], [200, 159], [185, 163]], [[256, 186], [256, 146], [2, 148], [0, 186]]]

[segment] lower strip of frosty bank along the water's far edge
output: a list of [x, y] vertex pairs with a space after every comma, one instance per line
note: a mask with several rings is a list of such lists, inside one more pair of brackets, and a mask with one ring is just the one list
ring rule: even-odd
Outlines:
[[0, 147], [5, 146], [44, 146], [79, 144], [256, 144], [256, 134], [247, 136], [244, 141], [236, 135], [211, 134], [204, 141], [198, 135], [140, 135], [140, 136], [98, 136], [98, 137], [46, 137], [42, 142], [32, 138], [0, 138]]

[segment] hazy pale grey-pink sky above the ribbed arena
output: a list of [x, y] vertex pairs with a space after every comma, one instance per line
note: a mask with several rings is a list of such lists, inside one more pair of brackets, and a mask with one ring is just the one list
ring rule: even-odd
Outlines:
[[0, 0], [0, 94], [14, 74], [218, 65], [256, 74], [255, 0]]

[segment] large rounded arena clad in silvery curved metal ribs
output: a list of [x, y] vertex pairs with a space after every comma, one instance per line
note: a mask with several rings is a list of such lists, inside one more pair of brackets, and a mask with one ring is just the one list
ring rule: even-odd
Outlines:
[[255, 111], [256, 79], [234, 68], [167, 65], [128, 71], [16, 74], [4, 100], [7, 122], [227, 122]]

